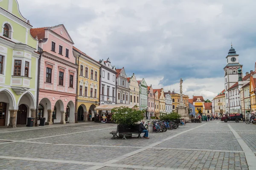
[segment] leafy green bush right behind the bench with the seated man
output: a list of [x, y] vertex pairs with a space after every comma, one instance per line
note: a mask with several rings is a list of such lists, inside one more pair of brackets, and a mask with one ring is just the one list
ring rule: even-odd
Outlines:
[[113, 113], [112, 119], [115, 120], [116, 123], [134, 125], [144, 118], [145, 110], [139, 111], [134, 108], [121, 106], [119, 108], [113, 108], [111, 112]]

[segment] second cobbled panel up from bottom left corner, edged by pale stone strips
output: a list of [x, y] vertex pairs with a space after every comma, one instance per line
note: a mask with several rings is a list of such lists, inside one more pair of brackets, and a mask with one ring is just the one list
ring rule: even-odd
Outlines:
[[1, 145], [4, 156], [105, 162], [132, 152], [134, 148], [60, 146], [16, 142]]

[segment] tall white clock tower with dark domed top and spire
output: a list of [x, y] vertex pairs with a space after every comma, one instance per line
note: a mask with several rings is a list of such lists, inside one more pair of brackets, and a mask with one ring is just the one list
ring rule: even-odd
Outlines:
[[239, 64], [239, 54], [236, 54], [235, 48], [233, 48], [231, 44], [231, 48], [228, 51], [228, 55], [226, 57], [227, 65], [224, 67], [224, 82], [225, 82], [225, 101], [226, 101], [226, 113], [229, 113], [229, 94], [227, 89], [233, 86], [236, 82], [238, 82], [238, 69], [243, 65]]

